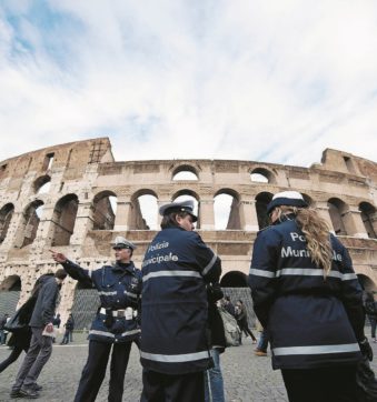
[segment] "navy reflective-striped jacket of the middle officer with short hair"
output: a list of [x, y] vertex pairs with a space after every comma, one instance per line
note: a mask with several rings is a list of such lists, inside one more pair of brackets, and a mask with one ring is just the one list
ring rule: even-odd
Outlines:
[[206, 282], [218, 282], [220, 273], [220, 259], [198, 233], [168, 228], [156, 235], [142, 263], [145, 369], [185, 374], [211, 366]]

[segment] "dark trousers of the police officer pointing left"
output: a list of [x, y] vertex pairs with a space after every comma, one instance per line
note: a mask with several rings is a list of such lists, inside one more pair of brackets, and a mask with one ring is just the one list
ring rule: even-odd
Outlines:
[[125, 375], [132, 341], [123, 343], [105, 343], [89, 341], [89, 354], [82, 370], [81, 380], [75, 402], [93, 402], [102, 384], [106, 368], [111, 353], [109, 402], [121, 402], [123, 395]]

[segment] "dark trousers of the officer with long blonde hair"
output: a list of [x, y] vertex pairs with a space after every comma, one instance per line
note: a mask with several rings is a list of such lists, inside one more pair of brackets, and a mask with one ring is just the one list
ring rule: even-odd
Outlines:
[[289, 402], [355, 402], [356, 365], [281, 370]]

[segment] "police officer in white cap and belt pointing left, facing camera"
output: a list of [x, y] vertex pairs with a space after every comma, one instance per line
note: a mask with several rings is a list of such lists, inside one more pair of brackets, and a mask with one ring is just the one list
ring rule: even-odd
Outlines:
[[132, 341], [140, 336], [138, 304], [141, 292], [141, 271], [131, 261], [136, 245], [117, 237], [112, 249], [116, 263], [90, 271], [52, 252], [73, 279], [98, 290], [101, 305], [89, 331], [89, 355], [82, 370], [75, 402], [95, 401], [106, 374], [112, 346], [109, 401], [120, 402]]

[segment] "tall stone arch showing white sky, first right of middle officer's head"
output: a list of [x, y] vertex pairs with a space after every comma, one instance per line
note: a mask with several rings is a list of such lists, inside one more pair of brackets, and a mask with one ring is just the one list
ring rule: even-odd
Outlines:
[[240, 230], [239, 193], [220, 189], [214, 197], [215, 229]]

